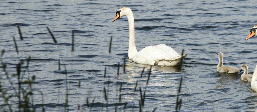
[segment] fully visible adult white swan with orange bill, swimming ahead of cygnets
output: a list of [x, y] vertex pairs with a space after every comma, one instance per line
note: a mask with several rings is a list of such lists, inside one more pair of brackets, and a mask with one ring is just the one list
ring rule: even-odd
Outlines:
[[115, 21], [120, 17], [127, 16], [129, 27], [129, 44], [128, 44], [128, 58], [136, 63], [149, 65], [165, 65], [176, 66], [180, 65], [180, 59], [186, 57], [186, 53], [182, 56], [165, 44], [157, 46], [148, 46], [137, 52], [135, 45], [135, 27], [134, 16], [132, 10], [128, 7], [122, 7], [116, 12]]

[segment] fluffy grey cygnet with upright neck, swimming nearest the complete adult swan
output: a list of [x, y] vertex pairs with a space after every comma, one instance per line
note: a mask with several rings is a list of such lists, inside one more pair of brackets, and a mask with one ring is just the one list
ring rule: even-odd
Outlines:
[[219, 64], [217, 65], [217, 71], [219, 73], [237, 73], [239, 71], [238, 68], [233, 67], [233, 66], [224, 66], [223, 65], [223, 53], [219, 52], [218, 54], [219, 58]]

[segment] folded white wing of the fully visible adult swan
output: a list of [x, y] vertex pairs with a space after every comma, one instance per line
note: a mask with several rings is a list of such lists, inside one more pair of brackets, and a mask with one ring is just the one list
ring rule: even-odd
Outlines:
[[136, 57], [144, 57], [149, 61], [167, 60], [171, 61], [180, 57], [175, 50], [165, 44], [148, 46], [136, 54]]

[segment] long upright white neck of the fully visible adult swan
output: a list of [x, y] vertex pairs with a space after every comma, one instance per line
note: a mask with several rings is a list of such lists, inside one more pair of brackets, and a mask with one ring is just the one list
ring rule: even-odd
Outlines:
[[128, 58], [133, 58], [137, 54], [136, 45], [135, 45], [135, 25], [134, 25], [134, 15], [131, 11], [127, 15], [128, 18], [128, 27], [129, 27], [129, 44], [128, 44]]

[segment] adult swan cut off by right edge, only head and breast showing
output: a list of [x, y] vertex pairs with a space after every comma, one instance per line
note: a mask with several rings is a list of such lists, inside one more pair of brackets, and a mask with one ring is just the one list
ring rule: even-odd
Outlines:
[[[257, 29], [257, 25], [252, 27], [252, 29], [250, 29], [249, 36], [245, 40], [248, 40], [248, 39], [252, 38], [253, 36], [257, 35], [256, 29]], [[253, 77], [252, 77], [252, 82], [251, 82], [251, 88], [255, 92], [257, 92], [257, 79], [256, 78], [257, 78], [257, 64], [256, 64], [256, 67], [254, 69]]]

